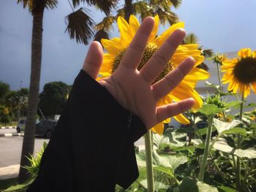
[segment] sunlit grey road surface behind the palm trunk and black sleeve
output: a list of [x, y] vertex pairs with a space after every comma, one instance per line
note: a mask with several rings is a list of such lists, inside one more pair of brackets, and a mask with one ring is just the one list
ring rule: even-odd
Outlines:
[[[1, 129], [0, 134], [10, 134], [15, 133], [14, 129]], [[35, 139], [34, 153], [39, 152], [42, 147], [43, 142], [49, 142], [49, 139], [43, 139], [42, 137], [37, 137]], [[0, 167], [10, 166], [14, 164], [20, 164], [20, 155], [22, 149], [23, 137], [0, 137]], [[136, 146], [144, 148], [144, 139], [141, 138], [135, 142]]]

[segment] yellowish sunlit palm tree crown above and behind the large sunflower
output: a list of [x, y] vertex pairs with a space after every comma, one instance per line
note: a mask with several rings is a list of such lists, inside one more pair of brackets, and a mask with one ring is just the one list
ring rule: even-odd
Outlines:
[[[100, 39], [108, 37], [108, 31], [113, 28], [113, 23], [116, 22], [118, 16], [123, 17], [125, 20], [129, 20], [130, 15], [140, 15], [140, 18], [146, 18], [148, 16], [159, 15], [160, 23], [165, 25], [169, 23], [178, 22], [178, 16], [170, 11], [171, 7], [177, 8], [181, 4], [181, 0], [146, 0], [146, 1], [132, 1], [124, 0], [124, 5], [102, 19], [101, 22], [97, 23], [95, 29], [97, 33], [95, 35], [95, 40], [100, 42]], [[104, 33], [102, 32], [104, 31]], [[102, 37], [104, 34], [105, 37]]]

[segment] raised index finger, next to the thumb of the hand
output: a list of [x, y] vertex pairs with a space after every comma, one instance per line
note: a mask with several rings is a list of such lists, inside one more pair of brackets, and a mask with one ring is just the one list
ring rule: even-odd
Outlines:
[[126, 66], [130, 69], [137, 68], [153, 27], [154, 18], [148, 17], [143, 20], [143, 23], [141, 23], [140, 28], [124, 54], [121, 66]]

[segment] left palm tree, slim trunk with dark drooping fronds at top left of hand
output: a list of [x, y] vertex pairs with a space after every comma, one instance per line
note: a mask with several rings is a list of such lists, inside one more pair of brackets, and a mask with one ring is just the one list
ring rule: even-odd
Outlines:
[[[77, 7], [80, 3], [97, 6], [106, 15], [110, 12], [117, 0], [72, 0], [73, 7]], [[29, 11], [33, 17], [32, 41], [31, 41], [31, 76], [29, 85], [29, 104], [26, 116], [26, 128], [23, 138], [23, 146], [20, 160], [20, 183], [29, 179], [29, 174], [24, 166], [29, 166], [29, 154], [34, 153], [34, 135], [37, 115], [37, 104], [39, 96], [39, 81], [41, 74], [42, 61], [42, 20], [44, 10], [54, 9], [57, 7], [58, 0], [18, 0], [18, 4], [23, 4], [23, 8], [29, 7]], [[75, 38], [77, 42], [88, 44], [88, 39], [93, 35], [93, 20], [86, 14], [86, 9], [78, 9], [67, 16], [67, 31], [70, 38]]]

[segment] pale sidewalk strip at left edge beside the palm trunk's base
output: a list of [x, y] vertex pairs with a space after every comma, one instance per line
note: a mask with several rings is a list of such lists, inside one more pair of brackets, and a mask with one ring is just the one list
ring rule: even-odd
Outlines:
[[19, 170], [19, 164], [0, 167], [0, 180], [7, 180], [10, 178], [18, 177]]

